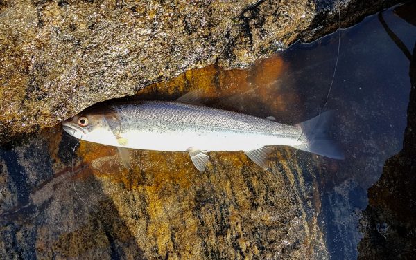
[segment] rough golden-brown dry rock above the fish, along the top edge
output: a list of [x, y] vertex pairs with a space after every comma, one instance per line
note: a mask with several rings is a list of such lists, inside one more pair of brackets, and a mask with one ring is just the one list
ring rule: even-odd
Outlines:
[[[343, 1], [343, 26], [399, 1]], [[333, 1], [0, 1], [0, 142], [190, 68], [243, 67], [338, 28]]]

